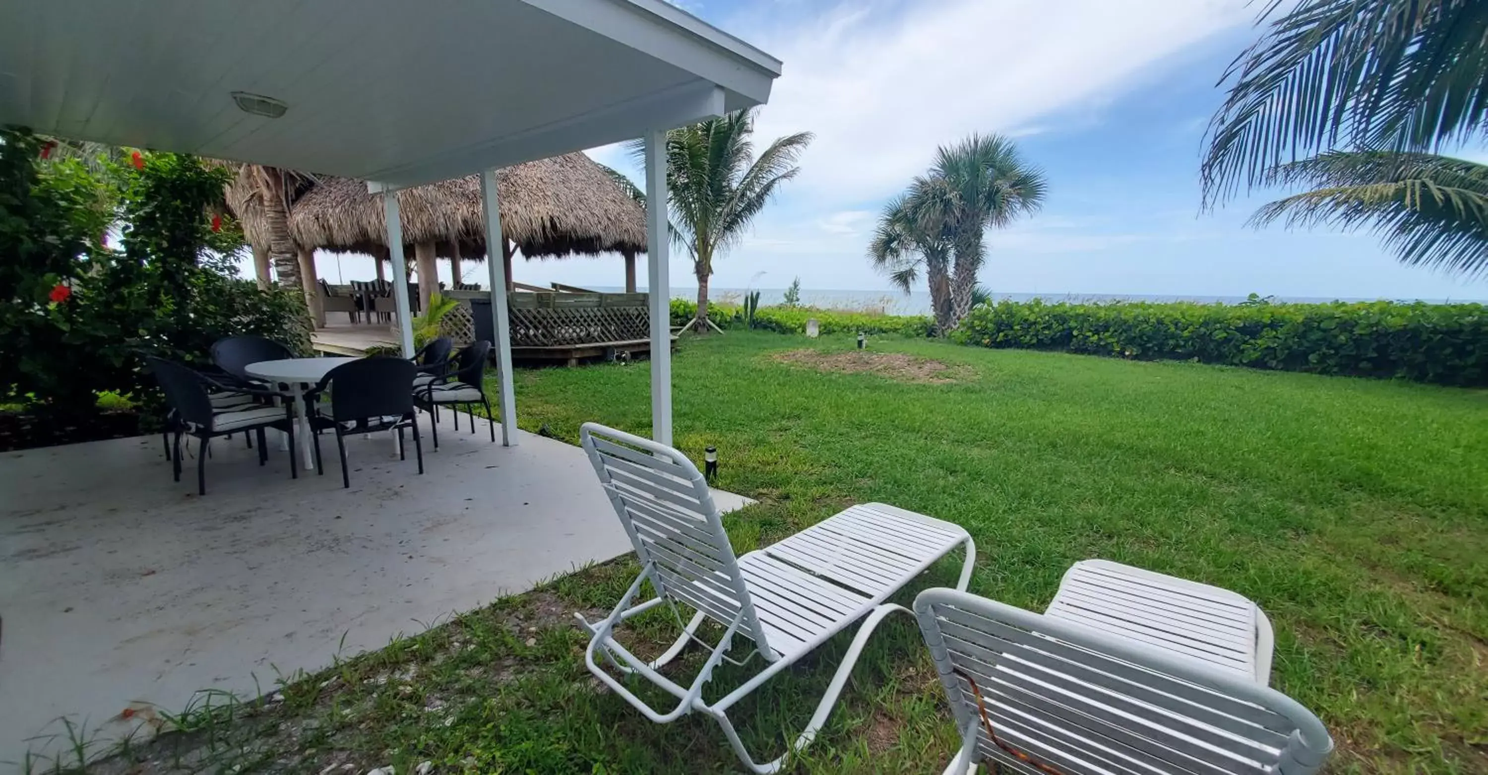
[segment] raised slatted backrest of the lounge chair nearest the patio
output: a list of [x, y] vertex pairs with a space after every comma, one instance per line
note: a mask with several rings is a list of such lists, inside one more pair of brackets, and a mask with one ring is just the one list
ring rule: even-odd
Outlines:
[[659, 596], [731, 625], [771, 655], [744, 574], [708, 483], [676, 449], [597, 422], [579, 430], [583, 451]]

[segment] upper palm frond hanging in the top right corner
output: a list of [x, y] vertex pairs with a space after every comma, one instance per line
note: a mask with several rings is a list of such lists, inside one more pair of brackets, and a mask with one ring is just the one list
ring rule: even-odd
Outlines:
[[1220, 79], [1205, 207], [1324, 149], [1436, 152], [1488, 129], [1488, 3], [1302, 0], [1278, 13], [1286, 4], [1266, 4], [1266, 31]]

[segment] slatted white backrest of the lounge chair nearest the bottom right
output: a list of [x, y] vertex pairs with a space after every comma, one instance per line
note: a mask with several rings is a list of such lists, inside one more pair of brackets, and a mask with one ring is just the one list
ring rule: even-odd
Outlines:
[[1065, 775], [1309, 775], [1333, 748], [1296, 701], [1187, 656], [952, 589], [915, 616], [963, 739], [1013, 772], [1039, 768], [997, 741]]

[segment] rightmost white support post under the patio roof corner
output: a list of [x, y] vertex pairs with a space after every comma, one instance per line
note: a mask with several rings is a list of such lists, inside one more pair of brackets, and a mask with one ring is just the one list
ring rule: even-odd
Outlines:
[[671, 446], [671, 278], [667, 262], [667, 131], [646, 132], [646, 293], [650, 306], [652, 439]]

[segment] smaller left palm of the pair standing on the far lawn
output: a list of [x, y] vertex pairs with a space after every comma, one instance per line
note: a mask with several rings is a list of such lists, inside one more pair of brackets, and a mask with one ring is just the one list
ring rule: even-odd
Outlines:
[[955, 327], [955, 309], [951, 305], [951, 239], [939, 225], [926, 228], [911, 210], [920, 183], [923, 181], [917, 180], [909, 192], [884, 205], [868, 245], [868, 257], [905, 293], [914, 289], [924, 271], [936, 329], [948, 332]]

